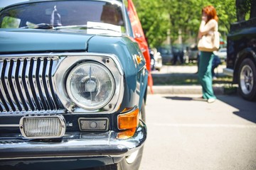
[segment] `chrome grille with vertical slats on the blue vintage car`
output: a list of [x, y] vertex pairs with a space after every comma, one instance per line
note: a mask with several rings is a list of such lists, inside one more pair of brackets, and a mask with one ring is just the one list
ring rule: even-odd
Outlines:
[[53, 91], [58, 58], [0, 58], [0, 111], [53, 111], [60, 108]]

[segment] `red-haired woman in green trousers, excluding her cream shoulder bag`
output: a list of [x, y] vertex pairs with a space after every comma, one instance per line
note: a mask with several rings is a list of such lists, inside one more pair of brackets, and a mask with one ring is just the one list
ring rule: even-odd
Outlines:
[[[203, 35], [213, 33], [218, 30], [218, 16], [213, 6], [206, 6], [202, 9], [202, 21], [198, 31], [198, 38]], [[203, 88], [203, 98], [208, 103], [213, 103], [216, 99], [213, 94], [213, 81], [212, 81], [212, 62], [213, 52], [201, 51], [199, 57], [198, 78]]]

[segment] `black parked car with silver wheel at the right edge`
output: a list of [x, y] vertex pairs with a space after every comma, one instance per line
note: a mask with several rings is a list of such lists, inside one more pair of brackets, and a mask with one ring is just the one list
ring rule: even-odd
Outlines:
[[224, 74], [233, 77], [240, 95], [256, 100], [256, 18], [230, 25], [228, 34], [227, 67]]

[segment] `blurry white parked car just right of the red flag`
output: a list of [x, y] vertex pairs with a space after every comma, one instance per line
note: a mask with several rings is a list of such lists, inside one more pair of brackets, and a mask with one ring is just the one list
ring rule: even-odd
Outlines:
[[157, 52], [156, 48], [149, 49], [150, 52], [150, 58], [151, 58], [151, 70], [161, 70], [162, 64], [162, 57], [160, 52]]

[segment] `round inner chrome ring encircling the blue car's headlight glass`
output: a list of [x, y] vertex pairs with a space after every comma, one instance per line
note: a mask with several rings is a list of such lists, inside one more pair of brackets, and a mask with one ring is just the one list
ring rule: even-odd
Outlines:
[[[111, 82], [111, 85], [112, 85], [111, 89], [110, 89], [110, 94], [107, 95], [107, 98], [105, 98], [104, 101], [99, 102], [99, 103], [94, 104], [94, 105], [89, 105], [89, 104], [82, 103], [78, 98], [75, 97], [75, 94], [73, 94], [73, 91], [71, 90], [72, 89], [71, 79], [72, 79], [73, 75], [79, 69], [82, 69], [82, 67], [86, 67], [87, 65], [89, 65], [89, 67], [94, 66], [94, 67], [98, 67], [98, 68], [102, 69], [103, 72], [105, 72], [105, 74], [108, 75], [108, 78], [110, 79], [110, 82]], [[88, 77], [91, 77], [91, 76], [90, 75], [85, 75], [84, 76], [85, 79], [88, 78]], [[97, 79], [97, 77], [93, 77], [93, 76], [91, 78], [92, 79]], [[100, 81], [98, 81], [98, 83], [101, 84]], [[95, 111], [97, 109], [105, 107], [108, 103], [110, 103], [110, 101], [112, 100], [112, 97], [114, 96], [116, 86], [115, 86], [114, 77], [112, 75], [112, 72], [110, 72], [110, 69], [108, 69], [107, 67], [105, 67], [105, 65], [103, 65], [99, 62], [85, 61], [85, 62], [80, 62], [79, 64], [76, 64], [75, 67], [73, 67], [73, 69], [70, 70], [70, 72], [68, 73], [68, 77], [66, 79], [66, 89], [67, 89], [67, 92], [68, 92], [68, 96], [70, 97], [70, 100], [73, 101], [77, 106], [79, 106], [80, 108], [83, 108], [85, 110], [88, 110], [88, 111]]]

